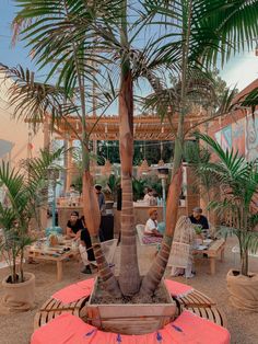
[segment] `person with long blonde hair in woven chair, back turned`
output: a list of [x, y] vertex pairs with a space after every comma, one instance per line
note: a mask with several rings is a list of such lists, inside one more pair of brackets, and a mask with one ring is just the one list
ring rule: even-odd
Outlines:
[[190, 245], [188, 264], [186, 268], [172, 266], [172, 276], [183, 276], [185, 274], [186, 278], [191, 278], [195, 276], [192, 274], [192, 249], [195, 245], [196, 231], [190, 219], [187, 216], [180, 216], [176, 222], [176, 228], [173, 237], [173, 242], [180, 242]]

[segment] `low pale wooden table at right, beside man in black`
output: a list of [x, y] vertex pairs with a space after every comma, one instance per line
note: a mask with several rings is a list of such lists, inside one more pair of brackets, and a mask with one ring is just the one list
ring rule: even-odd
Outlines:
[[210, 260], [210, 271], [211, 275], [215, 274], [215, 263], [216, 257], [219, 256], [221, 261], [224, 259], [224, 250], [225, 250], [225, 240], [218, 239], [214, 240], [210, 246], [206, 250], [194, 250], [192, 254], [207, 254]]

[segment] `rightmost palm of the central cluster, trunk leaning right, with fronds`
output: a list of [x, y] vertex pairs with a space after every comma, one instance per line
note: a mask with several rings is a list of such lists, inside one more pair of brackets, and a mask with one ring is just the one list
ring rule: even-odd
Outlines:
[[[174, 102], [167, 104], [171, 106], [169, 111], [166, 111], [172, 124], [173, 116], [178, 114], [178, 125], [173, 127], [175, 134], [173, 176], [178, 174], [180, 169], [187, 134], [186, 117], [190, 113], [189, 105], [196, 103], [191, 98], [191, 90], [196, 88], [195, 93], [200, 96], [202, 94], [202, 98], [206, 93], [209, 94], [212, 91], [212, 84], [209, 82], [209, 67], [216, 62], [219, 56], [223, 66], [232, 54], [244, 49], [245, 41], [251, 45], [258, 28], [256, 23], [257, 4], [258, 1], [186, 0], [167, 2], [161, 0], [154, 4], [151, 0], [145, 1], [149, 14], [154, 11], [157, 15], [157, 21], [152, 19], [152, 23], [154, 25], [159, 23], [161, 31], [166, 33], [163, 39], [159, 39], [162, 53], [169, 57], [174, 56], [178, 47], [180, 49], [177, 89], [169, 90]], [[196, 78], [196, 76], [201, 76], [201, 78]], [[225, 99], [219, 112], [212, 114], [213, 118], [226, 113], [232, 98], [233, 93]], [[165, 100], [167, 99], [171, 98], [166, 96]], [[164, 98], [157, 102], [157, 105], [160, 103], [164, 103]], [[200, 123], [195, 123], [194, 127]], [[173, 187], [173, 183], [171, 187]], [[164, 239], [169, 245], [172, 240], [167, 240], [167, 237], [171, 239], [173, 236], [177, 208], [178, 194], [175, 196], [168, 192], [166, 220], [171, 220], [171, 222], [167, 223]], [[142, 293], [152, 293], [156, 288], [157, 280], [166, 267], [166, 263], [164, 264], [166, 256], [167, 245], [164, 244], [142, 282]]]

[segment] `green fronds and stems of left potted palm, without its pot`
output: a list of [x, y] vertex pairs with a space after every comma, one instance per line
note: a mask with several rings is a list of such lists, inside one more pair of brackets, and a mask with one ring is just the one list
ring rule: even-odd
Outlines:
[[36, 217], [36, 210], [46, 200], [44, 190], [48, 185], [49, 167], [52, 167], [62, 151], [40, 151], [39, 158], [24, 161], [22, 170], [15, 170], [4, 162], [0, 167], [0, 182], [4, 186], [7, 198], [7, 206], [0, 203], [0, 252], [10, 267], [10, 283], [24, 282], [24, 249], [32, 243], [30, 221]]

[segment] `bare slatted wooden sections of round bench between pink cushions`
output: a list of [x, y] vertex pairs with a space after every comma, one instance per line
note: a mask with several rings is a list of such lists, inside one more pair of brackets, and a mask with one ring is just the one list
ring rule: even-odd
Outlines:
[[[34, 329], [48, 323], [62, 313], [71, 313], [86, 321], [86, 302], [89, 297], [84, 297], [75, 302], [63, 305], [55, 299], [48, 299], [36, 313], [34, 319]], [[204, 294], [194, 290], [185, 297], [175, 299], [180, 307], [180, 312], [186, 309], [197, 316], [208, 319], [218, 325], [226, 328], [224, 313], [216, 307], [215, 302]]]

